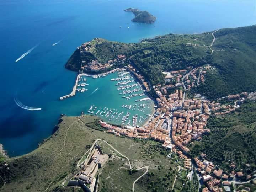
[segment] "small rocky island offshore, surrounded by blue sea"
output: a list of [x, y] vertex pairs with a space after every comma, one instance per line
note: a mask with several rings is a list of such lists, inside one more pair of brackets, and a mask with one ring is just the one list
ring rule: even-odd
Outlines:
[[148, 11], [140, 11], [139, 9], [133, 9], [133, 8], [128, 8], [125, 9], [124, 11], [131, 11], [135, 15], [135, 17], [131, 20], [133, 22], [138, 22], [138, 23], [154, 23], [156, 20], [156, 17], [151, 15]]

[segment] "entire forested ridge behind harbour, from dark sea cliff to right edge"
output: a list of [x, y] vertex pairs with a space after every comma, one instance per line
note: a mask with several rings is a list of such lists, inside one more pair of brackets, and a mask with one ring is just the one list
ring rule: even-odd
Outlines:
[[256, 25], [220, 29], [214, 33], [216, 40], [212, 47], [209, 47], [213, 41], [212, 32], [168, 34], [134, 44], [94, 39], [91, 43], [94, 49], [83, 54], [76, 51], [66, 67], [78, 70], [81, 60], [97, 59], [103, 63], [116, 58], [117, 54], [125, 54], [130, 58], [128, 63], [132, 63], [151, 84], [157, 85], [165, 83], [163, 71], [210, 64], [214, 70], [208, 71], [204, 83], [194, 87], [191, 92], [219, 98], [256, 90], [255, 34]]

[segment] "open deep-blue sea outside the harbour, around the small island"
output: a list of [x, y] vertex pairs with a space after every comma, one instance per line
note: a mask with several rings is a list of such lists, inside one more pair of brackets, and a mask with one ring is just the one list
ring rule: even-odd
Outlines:
[[[152, 25], [133, 23], [133, 14], [123, 11], [128, 7], [147, 10], [157, 20]], [[52, 133], [61, 113], [81, 113], [75, 97], [59, 100], [73, 87], [76, 73], [64, 65], [81, 43], [95, 37], [138, 42], [160, 34], [254, 25], [255, 10], [256, 1], [232, 0], [0, 1], [0, 143], [10, 156], [28, 153]], [[24, 105], [42, 110], [18, 107], [15, 95]]]

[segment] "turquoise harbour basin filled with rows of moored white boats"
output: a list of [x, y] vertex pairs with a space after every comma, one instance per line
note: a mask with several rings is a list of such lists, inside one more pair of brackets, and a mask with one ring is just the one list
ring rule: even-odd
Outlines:
[[79, 74], [73, 87], [74, 92], [62, 99], [75, 95], [65, 102], [74, 100], [79, 111], [84, 111], [83, 114], [98, 116], [105, 122], [142, 126], [149, 119], [147, 114], [152, 114], [154, 102], [146, 95], [137, 79], [122, 68], [103, 75]]

